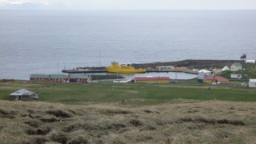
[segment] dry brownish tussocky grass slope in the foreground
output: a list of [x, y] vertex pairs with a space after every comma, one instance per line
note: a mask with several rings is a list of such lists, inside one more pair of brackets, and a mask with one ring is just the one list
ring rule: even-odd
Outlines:
[[256, 143], [255, 102], [133, 106], [0, 101], [0, 143]]

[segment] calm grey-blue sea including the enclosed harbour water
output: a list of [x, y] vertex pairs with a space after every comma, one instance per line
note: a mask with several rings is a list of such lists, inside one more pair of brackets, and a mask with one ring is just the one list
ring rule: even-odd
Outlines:
[[[21, 80], [113, 60], [256, 59], [256, 10], [0, 10], [0, 50], [0, 79]], [[139, 76], [166, 75], [195, 77]]]

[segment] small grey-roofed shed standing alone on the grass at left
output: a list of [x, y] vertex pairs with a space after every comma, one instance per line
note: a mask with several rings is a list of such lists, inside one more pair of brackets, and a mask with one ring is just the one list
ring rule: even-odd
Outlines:
[[18, 90], [14, 93], [10, 94], [10, 100], [31, 100], [31, 99], [38, 99], [38, 95], [35, 94], [35, 92], [30, 91], [30, 90], [26, 90], [26, 89], [22, 89], [22, 90]]

